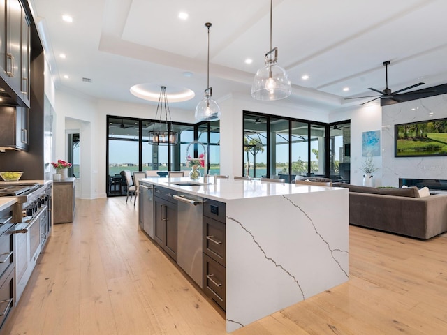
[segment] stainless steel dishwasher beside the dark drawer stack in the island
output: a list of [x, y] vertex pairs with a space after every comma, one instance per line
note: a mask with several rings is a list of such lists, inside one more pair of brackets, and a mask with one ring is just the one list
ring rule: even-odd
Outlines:
[[177, 192], [177, 264], [200, 288], [203, 278], [203, 198]]

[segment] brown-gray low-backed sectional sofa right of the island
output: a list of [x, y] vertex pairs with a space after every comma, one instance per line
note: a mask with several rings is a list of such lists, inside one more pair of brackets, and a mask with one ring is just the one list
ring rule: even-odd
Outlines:
[[349, 223], [418, 239], [447, 231], [447, 195], [419, 197], [416, 186], [374, 188], [335, 183], [349, 188]]

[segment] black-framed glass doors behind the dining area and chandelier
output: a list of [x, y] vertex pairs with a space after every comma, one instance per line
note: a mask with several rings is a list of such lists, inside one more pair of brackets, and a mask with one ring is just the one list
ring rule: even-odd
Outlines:
[[154, 129], [154, 122], [159, 121], [108, 116], [107, 122], [109, 196], [126, 194], [125, 182], [120, 180], [123, 170], [189, 170], [186, 168], [186, 147], [195, 138], [200, 138], [205, 147], [209, 147], [208, 161], [212, 160], [210, 165], [214, 167], [211, 173], [220, 172], [219, 121], [199, 125], [171, 123], [170, 131], [179, 134], [179, 142], [175, 145], [149, 145], [149, 131]]

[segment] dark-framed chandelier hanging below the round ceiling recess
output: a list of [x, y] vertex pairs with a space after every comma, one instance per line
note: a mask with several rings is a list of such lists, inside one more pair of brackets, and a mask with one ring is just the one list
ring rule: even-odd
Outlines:
[[[163, 116], [163, 107], [165, 110], [165, 119], [166, 119], [164, 124], [161, 121], [161, 117]], [[159, 103], [156, 105], [155, 119], [159, 114], [159, 110], [160, 110], [159, 122], [157, 123], [155, 121], [154, 128], [152, 129], [152, 131], [149, 131], [149, 144], [154, 145], [177, 144], [179, 134], [175, 133], [175, 131], [170, 130], [170, 128], [172, 128], [172, 123], [170, 120], [170, 110], [168, 104], [168, 96], [166, 95], [166, 86], [162, 86], [160, 89]], [[169, 114], [169, 121], [168, 121], [168, 114]]]

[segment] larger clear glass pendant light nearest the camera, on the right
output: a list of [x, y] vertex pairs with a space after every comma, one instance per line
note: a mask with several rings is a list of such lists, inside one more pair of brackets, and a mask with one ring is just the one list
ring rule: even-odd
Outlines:
[[279, 100], [292, 93], [291, 82], [286, 70], [277, 65], [278, 48], [272, 48], [273, 0], [270, 0], [270, 51], [265, 54], [265, 66], [254, 76], [251, 96], [256, 100]]

